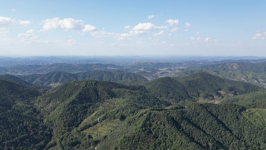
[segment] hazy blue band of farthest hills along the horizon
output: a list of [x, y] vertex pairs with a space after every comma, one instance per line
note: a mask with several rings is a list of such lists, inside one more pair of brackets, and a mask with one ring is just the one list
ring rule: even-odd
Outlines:
[[28, 56], [28, 57], [0, 57], [0, 66], [15, 65], [44, 65], [51, 63], [103, 63], [128, 65], [134, 62], [186, 62], [186, 61], [236, 61], [262, 62], [265, 57], [258, 56], [175, 56], [175, 55], [143, 55], [143, 56]]

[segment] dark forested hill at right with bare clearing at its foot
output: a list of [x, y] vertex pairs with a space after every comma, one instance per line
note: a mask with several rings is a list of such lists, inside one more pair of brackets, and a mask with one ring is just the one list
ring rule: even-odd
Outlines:
[[193, 97], [223, 98], [263, 89], [249, 83], [221, 78], [207, 72], [194, 73], [178, 79]]

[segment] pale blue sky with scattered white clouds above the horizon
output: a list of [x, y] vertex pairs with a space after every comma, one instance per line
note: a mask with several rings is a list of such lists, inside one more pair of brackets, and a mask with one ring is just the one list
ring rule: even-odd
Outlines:
[[0, 56], [266, 56], [266, 0], [0, 0]]

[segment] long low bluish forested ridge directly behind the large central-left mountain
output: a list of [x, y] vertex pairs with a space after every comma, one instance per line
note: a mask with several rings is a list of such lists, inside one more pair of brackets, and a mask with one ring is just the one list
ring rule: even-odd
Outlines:
[[145, 82], [147, 80], [143, 76], [132, 72], [103, 70], [92, 70], [79, 73], [55, 71], [43, 74], [35, 73], [30, 75], [18, 76], [27, 82], [44, 86], [55, 86], [68, 81], [77, 81], [84, 79], [105, 80], [123, 84], [137, 84]]

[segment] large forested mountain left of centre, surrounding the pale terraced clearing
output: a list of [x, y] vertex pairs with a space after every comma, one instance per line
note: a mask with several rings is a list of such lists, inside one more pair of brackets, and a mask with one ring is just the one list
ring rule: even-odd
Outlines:
[[[84, 139], [84, 130], [97, 125], [98, 118], [102, 122], [109, 120], [110, 123], [120, 123], [127, 115], [140, 109], [169, 104], [147, 93], [143, 86], [83, 80], [67, 82], [56, 87], [39, 97], [35, 106], [53, 129], [53, 138], [47, 148], [92, 149], [98, 139]], [[109, 126], [108, 123], [107, 125]], [[106, 128], [107, 132], [112, 129]]]

